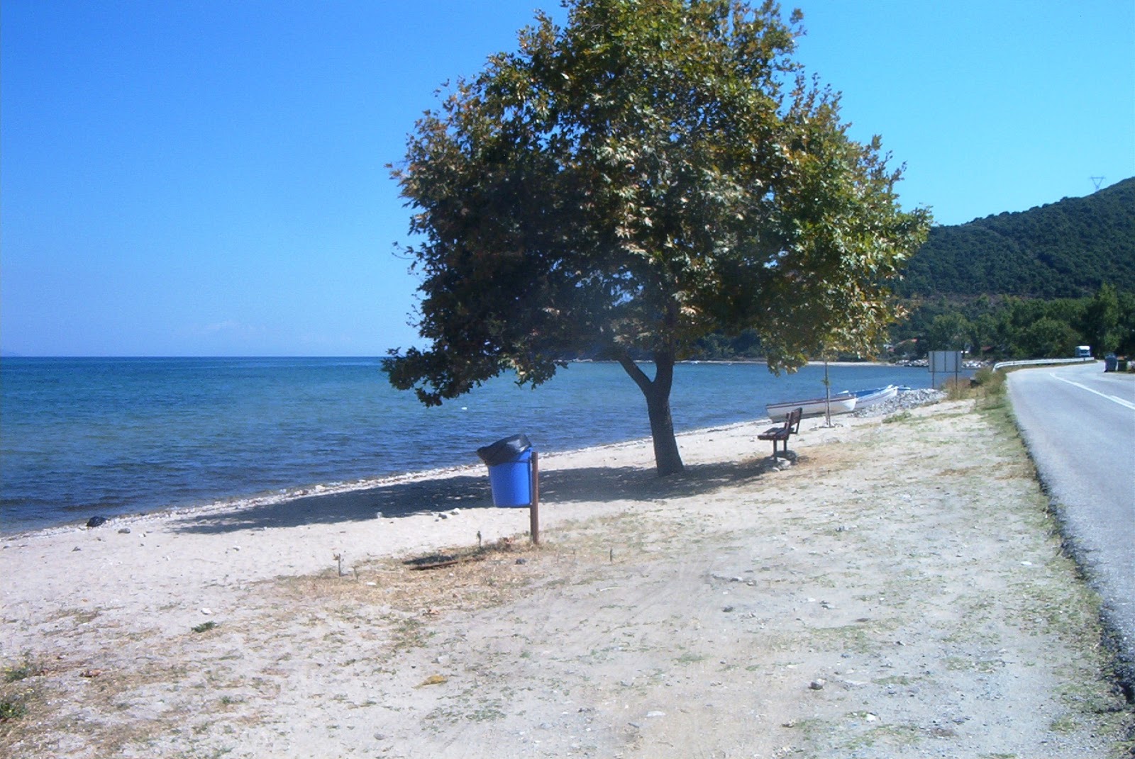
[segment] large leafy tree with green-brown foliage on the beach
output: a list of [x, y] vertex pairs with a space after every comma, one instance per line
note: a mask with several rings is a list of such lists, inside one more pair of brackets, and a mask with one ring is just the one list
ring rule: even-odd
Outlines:
[[[755, 329], [770, 369], [863, 348], [925, 238], [878, 138], [792, 59], [799, 11], [731, 0], [570, 0], [519, 50], [442, 93], [393, 168], [419, 242], [424, 349], [392, 383], [427, 405], [512, 370], [549, 379], [579, 352], [646, 397], [659, 474], [681, 471], [674, 363]], [[648, 357], [654, 376], [636, 359]]]

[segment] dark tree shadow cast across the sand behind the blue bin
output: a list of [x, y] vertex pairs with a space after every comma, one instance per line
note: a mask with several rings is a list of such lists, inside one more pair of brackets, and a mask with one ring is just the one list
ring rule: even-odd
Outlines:
[[[783, 456], [783, 454], [782, 454]], [[791, 452], [787, 457], [796, 458]], [[659, 500], [706, 495], [735, 487], [777, 469], [768, 457], [688, 466], [659, 478], [654, 469], [590, 466], [540, 472], [540, 506], [603, 500]], [[491, 508], [486, 474], [440, 475], [415, 482], [392, 482], [362, 490], [301, 496], [279, 503], [234, 506], [222, 512], [191, 514], [174, 529], [196, 534], [224, 534], [305, 524], [345, 524], [376, 518], [439, 514], [454, 508]], [[381, 515], [379, 517], [379, 514]]]

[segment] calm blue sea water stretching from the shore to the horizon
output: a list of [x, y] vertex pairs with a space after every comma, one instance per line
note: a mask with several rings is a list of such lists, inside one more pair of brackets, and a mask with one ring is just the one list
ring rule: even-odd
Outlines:
[[[833, 366], [832, 389], [928, 387], [925, 369]], [[764, 418], [823, 395], [823, 366], [681, 364], [679, 431]], [[524, 432], [545, 453], [649, 436], [616, 364], [581, 363], [536, 390], [498, 379], [439, 408], [368, 359], [3, 359], [0, 531], [477, 463]]]

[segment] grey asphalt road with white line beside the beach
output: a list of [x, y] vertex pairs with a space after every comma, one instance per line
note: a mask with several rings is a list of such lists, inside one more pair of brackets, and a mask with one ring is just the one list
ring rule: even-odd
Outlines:
[[1017, 424], [1104, 602], [1135, 685], [1135, 374], [1102, 363], [1009, 374]]

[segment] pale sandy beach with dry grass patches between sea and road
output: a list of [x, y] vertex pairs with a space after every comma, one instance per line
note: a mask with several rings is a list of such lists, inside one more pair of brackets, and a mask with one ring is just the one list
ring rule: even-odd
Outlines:
[[1003, 410], [765, 427], [5, 538], [0, 754], [1130, 756]]

